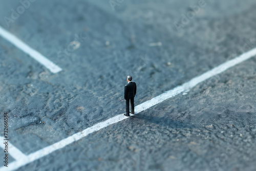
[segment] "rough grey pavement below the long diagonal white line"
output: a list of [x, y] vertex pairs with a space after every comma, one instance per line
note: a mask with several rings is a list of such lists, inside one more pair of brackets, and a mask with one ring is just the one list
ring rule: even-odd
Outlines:
[[255, 65], [246, 61], [21, 170], [254, 170]]

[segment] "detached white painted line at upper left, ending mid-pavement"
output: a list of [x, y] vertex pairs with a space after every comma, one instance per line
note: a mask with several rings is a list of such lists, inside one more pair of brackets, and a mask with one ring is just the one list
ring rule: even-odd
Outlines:
[[55, 63], [47, 59], [45, 56], [37, 52], [36, 50], [29, 47], [25, 44], [22, 40], [18, 39], [16, 36], [11, 34], [10, 32], [6, 31], [0, 26], [0, 36], [5, 38], [6, 40], [10, 41], [14, 46], [19, 48], [20, 50], [24, 51], [25, 53], [29, 54], [32, 58], [37, 60], [41, 65], [48, 68], [52, 73], [57, 73], [62, 69], [59, 68]]

